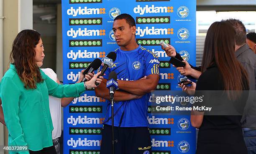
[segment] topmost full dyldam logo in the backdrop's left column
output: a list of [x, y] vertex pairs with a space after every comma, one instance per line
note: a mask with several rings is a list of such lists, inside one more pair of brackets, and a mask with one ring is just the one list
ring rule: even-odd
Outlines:
[[78, 7], [78, 9], [70, 7], [70, 9], [67, 10], [67, 15], [72, 15], [73, 17], [77, 15], [99, 15], [105, 14], [105, 10], [105, 8], [87, 8], [86, 6], [84, 8]]

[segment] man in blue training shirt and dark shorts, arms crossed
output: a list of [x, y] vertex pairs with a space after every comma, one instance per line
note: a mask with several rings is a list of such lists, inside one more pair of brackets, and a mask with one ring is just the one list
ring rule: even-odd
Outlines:
[[[151, 92], [159, 82], [158, 57], [135, 40], [136, 24], [131, 15], [118, 15], [113, 22], [113, 31], [118, 49], [115, 65], [108, 68], [102, 84], [95, 88], [97, 97], [110, 99], [106, 88], [108, 75], [115, 71], [118, 76], [118, 90], [114, 95], [114, 133], [116, 154], [151, 154], [151, 138], [147, 113]], [[108, 101], [103, 122], [100, 154], [112, 152], [111, 106]]]

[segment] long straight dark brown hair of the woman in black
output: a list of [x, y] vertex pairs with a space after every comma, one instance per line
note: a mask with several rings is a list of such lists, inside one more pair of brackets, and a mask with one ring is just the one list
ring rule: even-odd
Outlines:
[[[207, 67], [217, 65], [223, 79], [224, 90], [246, 89], [243, 80], [248, 81], [246, 70], [235, 57], [236, 32], [228, 22], [214, 22], [207, 31], [204, 54], [202, 58], [202, 72]], [[231, 66], [231, 67], [230, 67]], [[243, 77], [245, 75], [245, 78]], [[248, 84], [247, 84], [248, 85]], [[230, 97], [231, 96], [231, 97]], [[231, 95], [229, 98], [237, 98]]]

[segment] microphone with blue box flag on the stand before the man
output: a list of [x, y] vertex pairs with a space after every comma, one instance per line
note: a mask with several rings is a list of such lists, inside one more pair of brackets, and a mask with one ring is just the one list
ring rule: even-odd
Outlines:
[[108, 75], [108, 82], [106, 83], [109, 89], [110, 99], [114, 99], [115, 89], [118, 88], [118, 82], [116, 82], [117, 75], [114, 71], [110, 72]]

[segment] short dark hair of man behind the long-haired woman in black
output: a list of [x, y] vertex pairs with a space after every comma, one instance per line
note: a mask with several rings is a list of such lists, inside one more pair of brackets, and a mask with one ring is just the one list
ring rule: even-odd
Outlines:
[[230, 23], [236, 30], [236, 45], [240, 46], [246, 43], [246, 28], [241, 20], [227, 19], [222, 21]]

